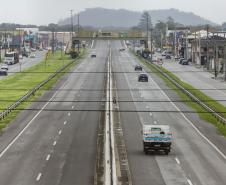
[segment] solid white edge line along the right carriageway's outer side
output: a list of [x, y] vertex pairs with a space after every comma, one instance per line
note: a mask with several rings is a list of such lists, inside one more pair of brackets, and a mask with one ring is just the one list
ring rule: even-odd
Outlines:
[[211, 145], [225, 160], [226, 160], [226, 155], [224, 155], [223, 152], [220, 151], [220, 149], [214, 145], [204, 134], [202, 134], [199, 129], [184, 115], [184, 113], [181, 112], [181, 110], [176, 106], [176, 104], [174, 102], [171, 101], [171, 99], [166, 95], [166, 93], [159, 87], [159, 85], [152, 79], [152, 82], [156, 85], [156, 87], [158, 87], [158, 89], [160, 90], [160, 92], [167, 98], [168, 101], [170, 101], [170, 103], [175, 107], [175, 109], [180, 112], [180, 115], [182, 115], [182, 117], [195, 129], [195, 131], [204, 139], [206, 140], [209, 145]]

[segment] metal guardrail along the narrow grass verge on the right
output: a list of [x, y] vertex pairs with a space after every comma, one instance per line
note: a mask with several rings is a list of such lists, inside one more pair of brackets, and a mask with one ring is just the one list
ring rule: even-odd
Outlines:
[[[146, 61], [146, 62], [147, 63], [150, 63], [148, 61]], [[157, 71], [159, 71], [164, 77], [166, 77], [168, 80], [170, 80], [178, 89], [180, 89], [183, 93], [185, 93], [186, 95], [188, 95], [193, 101], [195, 101], [196, 103], [198, 103], [206, 111], [210, 112], [215, 118], [217, 118], [221, 123], [223, 123], [224, 125], [226, 125], [226, 119], [223, 116], [221, 116], [219, 113], [217, 113], [216, 111], [214, 111], [211, 107], [209, 107], [207, 104], [205, 104], [204, 102], [202, 102], [194, 94], [192, 94], [191, 92], [189, 92], [188, 90], [186, 90], [175, 79], [173, 79], [172, 77], [170, 77], [169, 75], [167, 75], [166, 73], [164, 73], [158, 66], [156, 66], [156, 64], [153, 64], [153, 67]]]

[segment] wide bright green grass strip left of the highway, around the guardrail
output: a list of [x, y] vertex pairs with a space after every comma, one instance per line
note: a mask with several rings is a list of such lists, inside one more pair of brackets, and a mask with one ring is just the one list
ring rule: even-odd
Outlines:
[[[80, 57], [85, 55], [85, 50], [81, 52]], [[24, 96], [29, 90], [48, 79], [50, 75], [74, 61], [70, 56], [63, 54], [61, 52], [56, 52], [54, 55], [50, 56], [46, 61], [41, 61], [33, 67], [22, 71], [22, 73], [17, 73], [12, 76], [8, 76], [0, 80], [0, 109], [6, 109], [19, 98]], [[76, 59], [72, 65], [67, 67], [63, 72], [70, 69], [79, 62]], [[45, 72], [45, 73], [43, 73]], [[46, 90], [51, 89], [58, 79], [64, 75], [64, 73], [58, 74], [55, 78], [49, 81], [44, 88], [38, 90], [33, 97], [30, 97], [27, 102], [23, 102], [18, 109], [25, 109], [31, 104], [31, 101], [37, 100]], [[20, 110], [12, 111], [5, 119], [0, 121], [0, 130], [6, 127], [15, 117], [18, 115]]]

